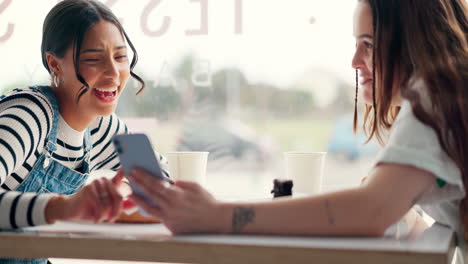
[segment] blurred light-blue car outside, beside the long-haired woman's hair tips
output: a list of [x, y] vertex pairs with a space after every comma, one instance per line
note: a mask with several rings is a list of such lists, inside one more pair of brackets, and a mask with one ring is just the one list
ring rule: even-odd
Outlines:
[[345, 115], [337, 119], [327, 146], [327, 152], [341, 155], [348, 160], [356, 160], [366, 156], [376, 155], [379, 146], [374, 141], [367, 140], [366, 135], [359, 129], [353, 133], [353, 116]]

